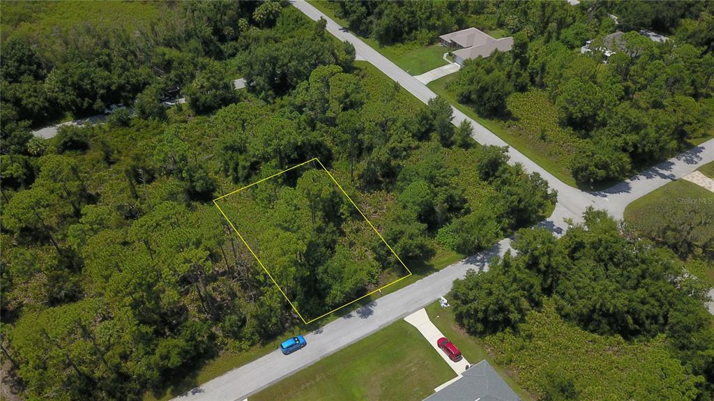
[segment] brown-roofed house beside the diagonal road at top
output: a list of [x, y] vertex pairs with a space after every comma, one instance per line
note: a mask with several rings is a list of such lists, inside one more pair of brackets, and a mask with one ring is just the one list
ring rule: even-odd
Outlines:
[[494, 50], [509, 51], [513, 48], [513, 36], [495, 39], [476, 28], [462, 29], [439, 36], [441, 44], [452, 50], [453, 61], [463, 65], [464, 60], [491, 56]]

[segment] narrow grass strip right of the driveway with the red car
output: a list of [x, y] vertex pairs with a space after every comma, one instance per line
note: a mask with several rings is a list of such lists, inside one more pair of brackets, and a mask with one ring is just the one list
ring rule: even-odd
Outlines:
[[488, 353], [488, 349], [485, 345], [483, 345], [483, 342], [481, 342], [481, 339], [468, 335], [461, 327], [458, 326], [456, 318], [453, 315], [452, 308], [441, 308], [441, 305], [439, 305], [438, 302], [434, 302], [426, 307], [426, 314], [429, 315], [429, 319], [431, 319], [431, 322], [434, 323], [436, 328], [441, 330], [441, 333], [443, 333], [446, 338], [456, 344], [458, 349], [461, 350], [463, 357], [465, 357], [468, 362], [471, 362], [472, 365], [476, 365], [482, 360], [487, 360], [488, 363], [496, 369], [496, 372], [503, 377], [503, 380], [506, 380], [506, 383], [508, 383], [511, 389], [515, 391], [519, 397], [521, 397], [521, 400], [535, 400], [533, 395], [526, 392], [526, 390], [523, 390], [521, 385], [519, 385], [518, 382], [511, 377], [513, 372], [504, 369], [493, 360], [491, 355]]

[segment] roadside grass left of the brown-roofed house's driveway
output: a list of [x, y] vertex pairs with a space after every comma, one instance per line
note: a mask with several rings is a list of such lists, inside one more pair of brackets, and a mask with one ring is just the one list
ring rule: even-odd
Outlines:
[[[345, 28], [348, 26], [347, 21], [336, 16], [336, 4], [324, 0], [308, 0], [308, 3], [322, 11], [323, 14], [333, 19], [337, 24]], [[447, 64], [443, 59], [443, 54], [446, 53], [446, 49], [439, 44], [421, 46], [419, 44], [410, 43], [381, 46], [375, 39], [360, 36], [355, 32], [352, 33], [358, 36], [359, 39], [368, 44], [372, 49], [375, 49], [382, 56], [385, 56], [399, 66], [399, 68], [411, 75], [420, 75], [434, 68], [446, 66]]]

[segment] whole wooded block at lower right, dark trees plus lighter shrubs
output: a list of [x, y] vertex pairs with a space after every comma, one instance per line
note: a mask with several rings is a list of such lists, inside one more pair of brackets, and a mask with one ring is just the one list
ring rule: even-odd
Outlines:
[[588, 209], [584, 220], [561, 238], [519, 230], [516, 256], [456, 280], [449, 295], [456, 322], [548, 399], [708, 400], [708, 285], [605, 212]]

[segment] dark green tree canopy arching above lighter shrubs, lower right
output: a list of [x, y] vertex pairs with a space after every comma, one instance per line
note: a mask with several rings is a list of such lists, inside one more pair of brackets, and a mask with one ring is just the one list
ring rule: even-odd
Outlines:
[[605, 212], [588, 209], [584, 220], [562, 238], [544, 228], [520, 230], [515, 256], [456, 280], [458, 322], [476, 335], [518, 330], [528, 311], [545, 302], [590, 333], [631, 342], [664, 336], [671, 357], [699, 376], [696, 390], [680, 397], [708, 400], [714, 366], [713, 321], [702, 303], [708, 288], [669, 250], [633, 239]]

